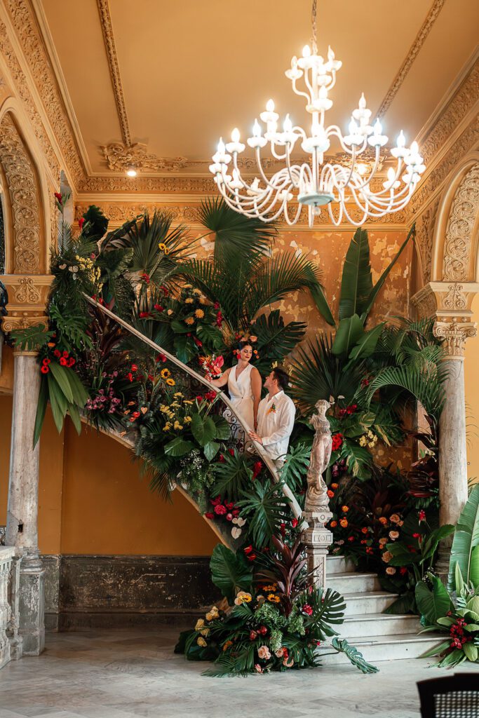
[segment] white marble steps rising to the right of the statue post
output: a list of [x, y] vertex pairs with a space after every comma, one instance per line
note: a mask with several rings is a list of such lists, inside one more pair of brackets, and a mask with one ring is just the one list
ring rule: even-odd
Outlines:
[[[389, 615], [383, 610], [396, 595], [381, 590], [376, 574], [355, 571], [352, 561], [343, 556], [327, 557], [327, 587], [343, 595], [345, 622], [338, 632], [353, 643], [366, 661], [390, 661], [417, 658], [439, 642], [437, 635], [418, 635], [419, 619], [411, 615]], [[325, 648], [329, 653], [330, 648]], [[332, 663], [348, 663], [341, 654], [327, 658]]]

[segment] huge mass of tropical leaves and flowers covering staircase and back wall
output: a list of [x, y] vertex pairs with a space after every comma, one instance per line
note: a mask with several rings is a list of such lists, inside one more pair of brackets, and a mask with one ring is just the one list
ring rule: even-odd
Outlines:
[[[35, 440], [48, 402], [59, 430], [69, 414], [78, 432], [84, 417], [126, 436], [152, 490], [167, 498], [181, 485], [240, 555], [248, 549], [246, 561], [256, 576], [265, 556], [275, 554], [274, 537], [294, 545], [297, 520], [282, 488], [287, 485], [300, 504], [304, 500], [313, 438], [308, 418], [319, 398], [331, 400], [333, 551], [377, 571], [384, 588], [400, 595], [392, 610], [416, 611], [415, 584], [432, 566], [440, 538], [452, 530], [437, 525], [442, 348], [429, 320], [396, 317], [371, 326], [378, 292], [414, 228], [376, 284], [367, 233], [356, 231], [334, 317], [317, 265], [307, 256], [275, 254], [274, 227], [218, 200], [202, 205], [198, 220], [205, 233], [192, 240], [187, 227], [172, 227], [171, 216], [162, 212], [108, 232], [107, 218], [94, 206], [73, 236], [63, 220], [65, 199], [57, 195], [62, 221], [51, 262], [48, 326], [11, 337], [39, 350]], [[214, 238], [213, 254], [197, 258], [204, 238]], [[302, 342], [304, 322], [285, 320], [277, 308], [294, 291], [312, 297], [330, 333]], [[261, 373], [276, 363], [289, 365], [298, 414], [279, 483], [258, 457], [238, 450], [215, 391], [205, 391], [169, 359], [211, 375], [231, 366], [242, 337], [253, 345]], [[427, 426], [421, 432], [414, 429], [417, 402]], [[393, 452], [408, 441], [423, 447], [410, 470], [379, 464], [378, 447]], [[251, 593], [259, 607], [256, 595]]]

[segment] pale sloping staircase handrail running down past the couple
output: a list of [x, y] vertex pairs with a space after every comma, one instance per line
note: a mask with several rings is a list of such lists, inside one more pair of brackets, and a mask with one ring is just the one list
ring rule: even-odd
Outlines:
[[[199, 381], [204, 386], [208, 387], [209, 391], [214, 391], [217, 395], [220, 401], [223, 401], [223, 404], [228, 407], [228, 409], [231, 411], [231, 414], [235, 416], [236, 421], [238, 421], [238, 424], [240, 424], [241, 428], [245, 432], [245, 434], [248, 434], [249, 427], [245, 424], [241, 416], [236, 414], [236, 411], [233, 407], [233, 404], [231, 404], [231, 401], [229, 400], [228, 396], [225, 396], [223, 391], [218, 389], [217, 387], [213, 386], [212, 383], [208, 381], [204, 376], [201, 376], [201, 374], [197, 373], [194, 369], [187, 366], [186, 364], [182, 363], [180, 359], [175, 357], [175, 355], [170, 354], [166, 349], [160, 347], [159, 344], [154, 342], [152, 339], [149, 339], [149, 337], [145, 337], [144, 334], [141, 334], [139, 330], [135, 329], [135, 327], [132, 327], [128, 322], [121, 319], [121, 317], [118, 317], [114, 312], [111, 312], [110, 309], [107, 309], [103, 306], [103, 304], [99, 304], [96, 302], [95, 299], [92, 299], [92, 297], [88, 297], [88, 294], [83, 293], [83, 297], [85, 297], [86, 301], [91, 304], [93, 307], [96, 307], [100, 312], [103, 312], [103, 314], [106, 314], [107, 317], [110, 317], [113, 321], [117, 322], [121, 327], [126, 329], [127, 332], [129, 332], [131, 335], [134, 335], [137, 339], [141, 340], [141, 342], [144, 342], [144, 344], [149, 345], [152, 349], [154, 349], [157, 353], [163, 354], [167, 357], [169, 361], [171, 361], [173, 364], [175, 364], [178, 368], [185, 371], [187, 374], [192, 376], [196, 379], [196, 381]], [[261, 457], [261, 460], [266, 465], [267, 469], [269, 470], [269, 473], [271, 474], [271, 477], [273, 480], [278, 483], [280, 481], [279, 474], [276, 471], [276, 467], [274, 466], [274, 463], [272, 462], [271, 458], [268, 454], [266, 454], [264, 448], [259, 444], [258, 442], [253, 442], [254, 447], [256, 451], [258, 452], [259, 456]], [[287, 486], [284, 482], [282, 482], [282, 492], [284, 493], [284, 497], [287, 499], [287, 502], [291, 506], [292, 512], [294, 514], [294, 517], [298, 520], [302, 517], [302, 510], [299, 506], [299, 503], [297, 502], [296, 498], [294, 497], [294, 494], [292, 493], [292, 490]], [[304, 522], [304, 528], [307, 527], [307, 523]]]

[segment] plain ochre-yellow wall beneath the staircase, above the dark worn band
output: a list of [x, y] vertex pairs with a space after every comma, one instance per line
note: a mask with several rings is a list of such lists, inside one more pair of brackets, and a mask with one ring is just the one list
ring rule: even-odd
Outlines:
[[[6, 521], [11, 397], [0, 396], [0, 523]], [[50, 411], [40, 440], [39, 547], [44, 554], [208, 556], [218, 543], [180, 494], [149, 491], [129, 449], [70, 421], [59, 436]]]

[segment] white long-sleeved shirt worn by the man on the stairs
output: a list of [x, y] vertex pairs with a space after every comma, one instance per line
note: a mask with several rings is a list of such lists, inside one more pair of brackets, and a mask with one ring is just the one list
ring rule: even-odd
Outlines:
[[277, 460], [287, 453], [295, 414], [292, 398], [284, 391], [271, 397], [268, 394], [259, 402], [257, 433], [271, 459]]

